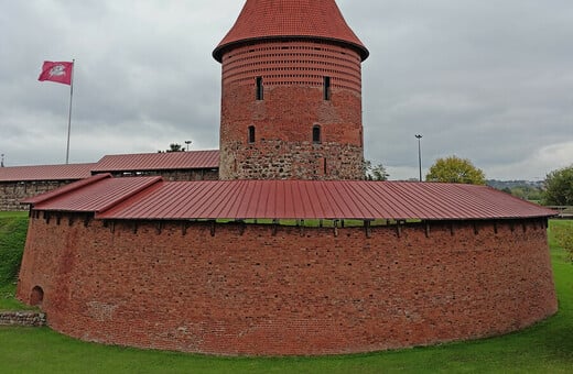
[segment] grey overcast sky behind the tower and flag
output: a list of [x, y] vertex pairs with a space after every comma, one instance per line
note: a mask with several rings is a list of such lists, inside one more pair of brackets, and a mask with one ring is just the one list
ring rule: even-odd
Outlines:
[[[65, 162], [69, 86], [42, 63], [76, 59], [71, 163], [218, 147], [210, 53], [245, 0], [0, 0], [0, 153]], [[543, 179], [573, 163], [573, 1], [338, 0], [370, 51], [365, 153], [390, 179], [437, 157], [487, 178]]]

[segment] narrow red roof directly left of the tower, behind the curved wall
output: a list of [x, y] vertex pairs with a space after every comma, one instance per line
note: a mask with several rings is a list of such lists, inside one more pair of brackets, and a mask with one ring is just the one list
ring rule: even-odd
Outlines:
[[119, 154], [104, 156], [94, 173], [219, 167], [219, 151]]

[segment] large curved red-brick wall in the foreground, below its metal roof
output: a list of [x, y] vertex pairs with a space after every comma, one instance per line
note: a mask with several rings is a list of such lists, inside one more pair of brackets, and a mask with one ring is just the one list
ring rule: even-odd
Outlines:
[[32, 218], [18, 286], [86, 341], [209, 354], [368, 352], [556, 311], [545, 220], [364, 228]]

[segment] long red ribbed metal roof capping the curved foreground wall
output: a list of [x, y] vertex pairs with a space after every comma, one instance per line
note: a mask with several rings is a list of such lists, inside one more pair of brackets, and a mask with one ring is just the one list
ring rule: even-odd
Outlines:
[[[138, 179], [141, 180], [137, 183]], [[553, 210], [485, 186], [356, 180], [152, 179], [106, 178], [39, 202], [34, 209], [93, 210], [100, 219], [141, 220], [466, 220], [555, 215]]]

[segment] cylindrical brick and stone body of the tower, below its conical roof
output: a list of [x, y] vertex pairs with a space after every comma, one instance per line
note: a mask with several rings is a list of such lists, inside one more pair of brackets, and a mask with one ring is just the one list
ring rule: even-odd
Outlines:
[[[262, 78], [261, 100], [256, 99], [257, 77]], [[329, 100], [324, 77], [331, 79]], [[315, 125], [320, 142], [313, 142]], [[219, 148], [221, 179], [361, 179], [356, 51], [306, 40], [261, 41], [226, 52]]]

